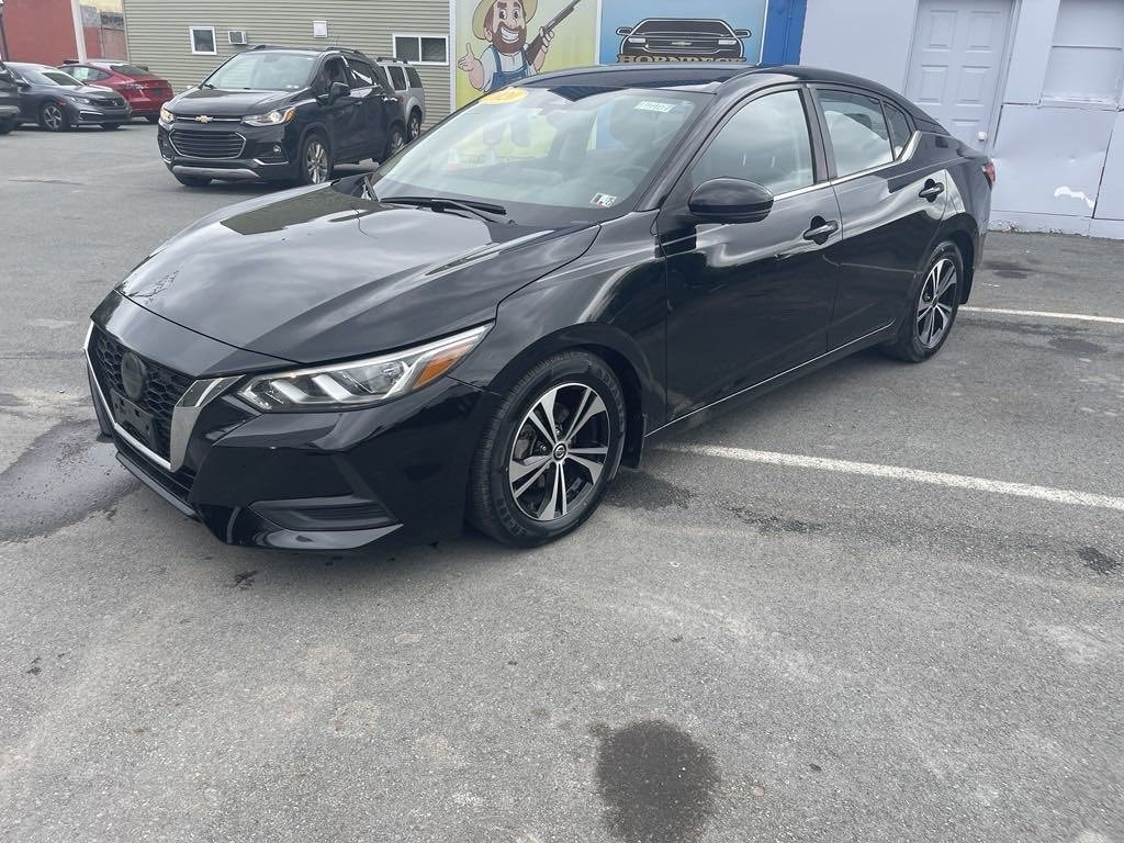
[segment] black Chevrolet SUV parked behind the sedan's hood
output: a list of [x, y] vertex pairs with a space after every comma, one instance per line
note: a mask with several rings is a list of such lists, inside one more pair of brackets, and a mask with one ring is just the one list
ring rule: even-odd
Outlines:
[[406, 139], [384, 72], [356, 49], [257, 46], [161, 109], [160, 153], [183, 184], [318, 184]]

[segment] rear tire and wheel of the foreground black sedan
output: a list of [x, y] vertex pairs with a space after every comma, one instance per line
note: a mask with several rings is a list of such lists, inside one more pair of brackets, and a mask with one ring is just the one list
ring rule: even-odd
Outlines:
[[[950, 270], [951, 284], [946, 281]], [[921, 363], [941, 351], [960, 311], [963, 283], [964, 260], [957, 244], [939, 243], [914, 279], [897, 336], [882, 351], [907, 363]]]

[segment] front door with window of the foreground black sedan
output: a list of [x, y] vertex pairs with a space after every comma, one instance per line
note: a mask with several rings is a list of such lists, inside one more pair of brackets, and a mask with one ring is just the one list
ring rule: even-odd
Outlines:
[[[840, 242], [835, 192], [815, 162], [807, 94], [769, 92], [741, 107], [680, 179], [660, 215], [668, 257], [668, 406], [683, 416], [824, 354]], [[705, 181], [734, 178], [776, 199], [758, 223], [691, 219]]]

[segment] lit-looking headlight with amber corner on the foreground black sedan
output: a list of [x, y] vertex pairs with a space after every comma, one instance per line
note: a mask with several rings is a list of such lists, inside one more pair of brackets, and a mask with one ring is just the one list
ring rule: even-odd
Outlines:
[[468, 356], [489, 328], [482, 325], [397, 354], [257, 375], [238, 397], [275, 411], [380, 404], [437, 380]]

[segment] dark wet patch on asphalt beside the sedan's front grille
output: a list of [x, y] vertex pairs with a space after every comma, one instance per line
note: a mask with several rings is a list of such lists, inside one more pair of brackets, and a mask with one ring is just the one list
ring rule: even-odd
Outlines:
[[109, 511], [138, 483], [114, 448], [96, 441], [97, 425], [62, 422], [0, 473], [0, 542], [51, 535], [98, 511]]

